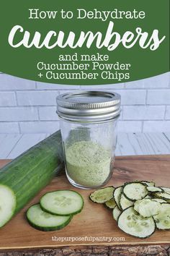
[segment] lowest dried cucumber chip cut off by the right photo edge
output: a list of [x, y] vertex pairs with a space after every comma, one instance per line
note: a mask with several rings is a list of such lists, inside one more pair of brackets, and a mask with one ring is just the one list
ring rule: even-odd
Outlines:
[[153, 218], [158, 229], [170, 229], [170, 203], [162, 203], [160, 213]]

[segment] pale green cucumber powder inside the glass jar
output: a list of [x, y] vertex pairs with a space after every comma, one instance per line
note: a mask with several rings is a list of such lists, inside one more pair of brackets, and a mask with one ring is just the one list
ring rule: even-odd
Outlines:
[[82, 186], [102, 185], [109, 177], [111, 161], [111, 152], [96, 142], [79, 141], [66, 147], [68, 176]]

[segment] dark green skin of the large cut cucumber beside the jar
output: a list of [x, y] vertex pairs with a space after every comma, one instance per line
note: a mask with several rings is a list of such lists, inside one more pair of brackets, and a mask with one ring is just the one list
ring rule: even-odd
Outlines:
[[[33, 146], [0, 170], [0, 184], [13, 190], [19, 212], [63, 168], [61, 132]], [[13, 216], [14, 216], [13, 215]]]

